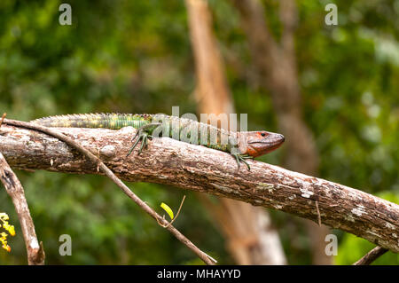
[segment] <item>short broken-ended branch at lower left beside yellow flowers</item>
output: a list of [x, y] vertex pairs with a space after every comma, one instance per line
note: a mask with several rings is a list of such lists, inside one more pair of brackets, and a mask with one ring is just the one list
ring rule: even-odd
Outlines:
[[5, 161], [2, 153], [0, 153], [0, 179], [5, 191], [12, 198], [12, 203], [20, 219], [20, 228], [27, 247], [27, 263], [29, 265], [43, 265], [45, 257], [43, 243], [40, 242], [39, 244], [37, 240], [35, 225], [27, 207], [24, 188], [20, 184], [18, 177], [12, 172], [7, 161]]

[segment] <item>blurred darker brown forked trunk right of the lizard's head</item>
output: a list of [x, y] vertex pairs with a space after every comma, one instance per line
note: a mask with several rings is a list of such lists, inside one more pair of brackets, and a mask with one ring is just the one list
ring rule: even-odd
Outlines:
[[[313, 134], [302, 118], [301, 90], [298, 83], [293, 31], [297, 23], [295, 1], [281, 0], [279, 15], [283, 28], [277, 43], [268, 28], [264, 7], [259, 0], [234, 0], [246, 30], [254, 66], [262, 87], [270, 90], [278, 115], [278, 128], [286, 136], [285, 167], [317, 176], [318, 156]], [[331, 264], [325, 255], [325, 235], [329, 230], [309, 221], [306, 224], [314, 264]]]

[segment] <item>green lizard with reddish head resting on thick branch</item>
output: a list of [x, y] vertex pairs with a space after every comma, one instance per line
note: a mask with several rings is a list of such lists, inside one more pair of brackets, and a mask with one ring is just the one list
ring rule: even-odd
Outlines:
[[132, 138], [132, 143], [134, 143], [127, 156], [132, 153], [140, 140], [142, 143], [138, 154], [147, 147], [148, 139], [168, 137], [231, 153], [238, 166], [242, 161], [246, 164], [248, 170], [250, 170], [250, 166], [246, 159], [254, 160], [255, 157], [270, 153], [278, 149], [285, 141], [283, 135], [266, 130], [223, 130], [208, 123], [166, 114], [66, 114], [43, 117], [31, 122], [56, 128], [120, 130], [123, 127], [130, 126], [137, 129], [137, 133]]

